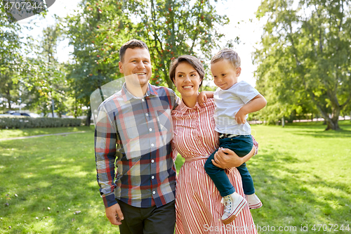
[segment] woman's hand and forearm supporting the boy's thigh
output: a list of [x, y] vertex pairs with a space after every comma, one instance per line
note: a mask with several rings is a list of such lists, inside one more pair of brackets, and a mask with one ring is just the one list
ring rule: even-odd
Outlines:
[[219, 148], [215, 154], [214, 160], [212, 160], [213, 165], [220, 167], [222, 169], [227, 169], [231, 167], [239, 167], [244, 162], [250, 160], [250, 158], [255, 153], [256, 148], [253, 147], [249, 154], [244, 157], [239, 157], [234, 151], [230, 149]]

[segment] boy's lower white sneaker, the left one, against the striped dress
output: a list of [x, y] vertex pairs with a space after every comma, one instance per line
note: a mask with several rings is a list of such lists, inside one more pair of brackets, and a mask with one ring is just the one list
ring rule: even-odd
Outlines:
[[221, 203], [223, 203], [225, 207], [224, 214], [220, 219], [225, 225], [237, 218], [239, 212], [241, 212], [241, 209], [243, 209], [247, 204], [244, 197], [241, 197], [241, 195], [239, 195], [237, 192], [222, 197]]

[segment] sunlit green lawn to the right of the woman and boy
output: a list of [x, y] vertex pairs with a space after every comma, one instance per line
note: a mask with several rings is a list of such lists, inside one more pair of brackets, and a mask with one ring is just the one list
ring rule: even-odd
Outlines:
[[[325, 127], [252, 126], [260, 150], [248, 168], [264, 205], [251, 210], [258, 226], [296, 226], [294, 233], [306, 233], [301, 225], [307, 233], [334, 233], [329, 223], [351, 228], [351, 123], [340, 122], [343, 131]], [[328, 231], [314, 232], [314, 224]]]

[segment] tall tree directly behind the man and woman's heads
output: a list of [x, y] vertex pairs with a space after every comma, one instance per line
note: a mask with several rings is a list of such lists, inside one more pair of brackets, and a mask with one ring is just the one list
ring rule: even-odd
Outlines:
[[[168, 79], [171, 59], [183, 54], [211, 58], [223, 34], [217, 25], [227, 17], [216, 13], [209, 1], [133, 0], [82, 1], [81, 12], [62, 22], [74, 46], [69, 77], [74, 96], [89, 105], [93, 91], [119, 74], [119, 48], [130, 39], [142, 39], [150, 48], [152, 84], [173, 89]], [[87, 120], [91, 117], [88, 111]], [[90, 124], [90, 122], [86, 122]]]

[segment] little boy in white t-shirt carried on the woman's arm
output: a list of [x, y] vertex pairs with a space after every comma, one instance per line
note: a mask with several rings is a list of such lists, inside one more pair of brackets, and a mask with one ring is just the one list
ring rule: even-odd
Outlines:
[[[216, 131], [219, 133], [220, 148], [228, 148], [236, 152], [239, 157], [244, 157], [253, 148], [251, 127], [246, 122], [246, 118], [249, 113], [264, 108], [267, 101], [250, 84], [237, 82], [241, 73], [240, 58], [232, 49], [223, 49], [213, 56], [211, 72], [213, 81], [218, 86], [213, 93], [213, 98], [216, 103], [214, 119]], [[205, 93], [201, 92], [200, 102], [201, 100], [206, 101], [206, 98], [203, 98]], [[225, 209], [221, 220], [227, 224], [232, 222], [245, 207], [246, 200], [235, 192], [224, 169], [213, 165], [211, 160], [217, 151], [206, 160], [205, 170], [223, 197], [222, 202], [225, 203]], [[244, 193], [250, 209], [262, 207], [262, 203], [255, 195], [253, 181], [246, 164], [241, 164], [237, 169], [241, 174]]]

